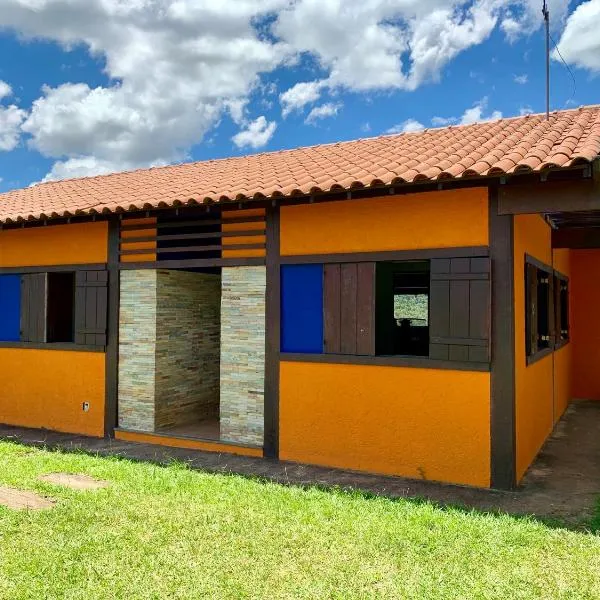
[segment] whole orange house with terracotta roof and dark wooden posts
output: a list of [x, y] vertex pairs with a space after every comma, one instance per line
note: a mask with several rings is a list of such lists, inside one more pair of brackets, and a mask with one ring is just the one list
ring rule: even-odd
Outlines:
[[600, 108], [0, 195], [0, 422], [479, 487], [600, 400]]

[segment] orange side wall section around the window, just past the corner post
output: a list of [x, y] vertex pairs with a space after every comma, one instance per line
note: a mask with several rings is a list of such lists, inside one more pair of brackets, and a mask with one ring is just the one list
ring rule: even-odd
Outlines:
[[517, 215], [515, 261], [515, 431], [517, 479], [520, 480], [554, 426], [553, 358], [526, 365], [525, 254], [552, 264], [551, 231], [539, 215]]

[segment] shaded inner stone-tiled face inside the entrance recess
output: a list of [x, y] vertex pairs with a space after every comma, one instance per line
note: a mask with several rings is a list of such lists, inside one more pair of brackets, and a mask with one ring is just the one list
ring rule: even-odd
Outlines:
[[158, 271], [157, 429], [219, 416], [221, 277]]

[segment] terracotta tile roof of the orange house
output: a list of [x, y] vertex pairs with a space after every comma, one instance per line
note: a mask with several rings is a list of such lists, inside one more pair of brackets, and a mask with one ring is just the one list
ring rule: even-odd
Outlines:
[[0, 222], [526, 173], [599, 155], [600, 105], [43, 183], [0, 194]]

